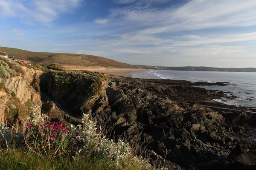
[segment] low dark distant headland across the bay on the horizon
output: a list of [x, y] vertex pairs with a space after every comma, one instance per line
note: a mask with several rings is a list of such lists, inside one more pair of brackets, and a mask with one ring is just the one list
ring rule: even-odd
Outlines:
[[137, 65], [140, 68], [154, 70], [174, 70], [174, 71], [229, 71], [229, 72], [256, 72], [256, 68], [214, 68], [214, 67], [161, 67]]

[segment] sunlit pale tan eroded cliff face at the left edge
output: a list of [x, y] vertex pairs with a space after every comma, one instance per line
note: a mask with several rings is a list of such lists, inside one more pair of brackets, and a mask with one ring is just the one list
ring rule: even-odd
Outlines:
[[[22, 130], [26, 124], [26, 117], [32, 105], [41, 107], [40, 93], [32, 87], [33, 79], [39, 77], [42, 71], [21, 67], [23, 75], [16, 77], [0, 78], [5, 89], [0, 89], [0, 122], [17, 124], [17, 128]], [[9, 92], [6, 93], [6, 91]]]

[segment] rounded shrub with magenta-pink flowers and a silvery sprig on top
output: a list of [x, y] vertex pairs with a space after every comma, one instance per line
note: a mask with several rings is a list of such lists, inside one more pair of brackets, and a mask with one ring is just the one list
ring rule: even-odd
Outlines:
[[45, 122], [46, 114], [40, 113], [35, 106], [31, 110], [31, 121], [26, 127], [26, 146], [39, 156], [56, 157], [67, 153], [72, 144], [72, 134], [63, 125], [56, 122]]

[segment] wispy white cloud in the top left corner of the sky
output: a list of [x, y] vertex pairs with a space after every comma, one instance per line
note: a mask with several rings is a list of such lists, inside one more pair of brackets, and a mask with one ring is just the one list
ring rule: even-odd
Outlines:
[[[78, 7], [81, 0], [0, 0], [3, 17], [20, 17], [25, 23], [52, 23], [60, 14]], [[1, 16], [0, 14], [0, 16]]]

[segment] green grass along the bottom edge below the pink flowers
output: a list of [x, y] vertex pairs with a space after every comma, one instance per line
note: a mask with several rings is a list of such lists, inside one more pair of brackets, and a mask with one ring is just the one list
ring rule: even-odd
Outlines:
[[0, 167], [4, 170], [111, 170], [104, 164], [100, 166], [101, 164], [101, 159], [87, 158], [75, 162], [67, 156], [39, 157], [26, 148], [0, 151]]

